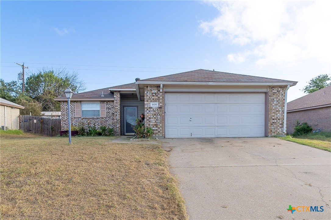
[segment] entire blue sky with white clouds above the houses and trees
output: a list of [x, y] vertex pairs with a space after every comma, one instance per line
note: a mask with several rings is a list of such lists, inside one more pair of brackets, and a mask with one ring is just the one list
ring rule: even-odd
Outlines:
[[328, 3], [260, 3], [1, 1], [1, 78], [65, 67], [93, 90], [215, 69], [299, 81], [291, 101], [330, 74]]

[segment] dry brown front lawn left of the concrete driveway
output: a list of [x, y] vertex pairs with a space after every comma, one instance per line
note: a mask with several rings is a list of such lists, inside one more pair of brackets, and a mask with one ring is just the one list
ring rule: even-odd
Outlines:
[[1, 137], [2, 219], [187, 219], [160, 144]]

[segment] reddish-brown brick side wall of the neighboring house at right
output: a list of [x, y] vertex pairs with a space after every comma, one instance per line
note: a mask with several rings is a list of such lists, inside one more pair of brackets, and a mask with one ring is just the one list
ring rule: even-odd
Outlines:
[[297, 120], [300, 123], [307, 122], [314, 130], [323, 128], [322, 131], [331, 131], [331, 107], [287, 112], [287, 133], [294, 132]]

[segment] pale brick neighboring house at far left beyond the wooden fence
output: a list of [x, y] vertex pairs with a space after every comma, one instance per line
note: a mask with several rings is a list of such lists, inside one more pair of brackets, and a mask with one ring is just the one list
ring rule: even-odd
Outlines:
[[1, 128], [4, 126], [4, 130], [8, 129], [20, 129], [19, 115], [20, 109], [24, 109], [16, 103], [10, 102], [6, 99], [0, 98], [0, 124]]

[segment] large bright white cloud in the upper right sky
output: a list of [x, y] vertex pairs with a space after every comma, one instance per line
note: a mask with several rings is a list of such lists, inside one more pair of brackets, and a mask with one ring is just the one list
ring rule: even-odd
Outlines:
[[209, 2], [220, 15], [202, 21], [205, 34], [241, 46], [228, 60], [255, 64], [293, 65], [307, 59], [329, 62], [329, 1]]

